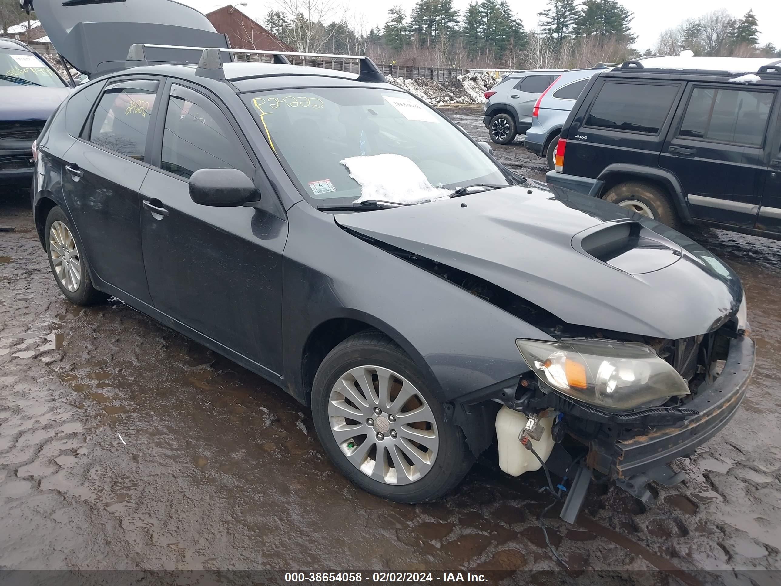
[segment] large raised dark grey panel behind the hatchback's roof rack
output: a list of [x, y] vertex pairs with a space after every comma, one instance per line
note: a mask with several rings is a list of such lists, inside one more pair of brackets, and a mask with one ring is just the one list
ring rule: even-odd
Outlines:
[[[52, 45], [81, 73], [125, 66], [130, 45], [228, 47], [209, 19], [173, 0], [33, 0]], [[148, 62], [198, 63], [201, 51], [149, 49]]]

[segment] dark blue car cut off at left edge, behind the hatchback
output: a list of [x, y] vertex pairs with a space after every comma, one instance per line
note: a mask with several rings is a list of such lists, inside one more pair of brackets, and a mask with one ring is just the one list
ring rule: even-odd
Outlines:
[[0, 185], [30, 184], [33, 141], [71, 88], [45, 59], [0, 39]]

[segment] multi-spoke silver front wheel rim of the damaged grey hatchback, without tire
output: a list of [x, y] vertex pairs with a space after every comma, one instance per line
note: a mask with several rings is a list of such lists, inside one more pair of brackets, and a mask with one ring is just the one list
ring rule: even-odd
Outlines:
[[331, 432], [344, 456], [384, 484], [411, 484], [433, 467], [437, 422], [415, 385], [380, 366], [344, 373], [330, 392]]

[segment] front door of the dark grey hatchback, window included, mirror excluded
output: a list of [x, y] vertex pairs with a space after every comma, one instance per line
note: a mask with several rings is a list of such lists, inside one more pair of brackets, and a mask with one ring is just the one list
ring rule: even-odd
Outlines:
[[[287, 222], [247, 206], [199, 205], [188, 181], [199, 169], [234, 168], [265, 181], [219, 100], [171, 84], [154, 163], [141, 186], [141, 225], [155, 308], [244, 358], [281, 372], [282, 251]], [[244, 105], [241, 105], [243, 108]]]

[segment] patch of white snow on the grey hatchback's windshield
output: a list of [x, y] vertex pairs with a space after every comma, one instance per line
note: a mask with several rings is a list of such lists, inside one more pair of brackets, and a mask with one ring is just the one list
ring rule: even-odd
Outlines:
[[355, 202], [421, 203], [450, 197], [451, 191], [434, 187], [412, 159], [402, 155], [357, 156], [340, 161], [361, 186]]

